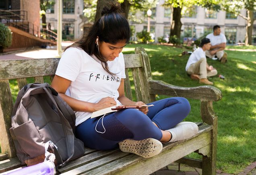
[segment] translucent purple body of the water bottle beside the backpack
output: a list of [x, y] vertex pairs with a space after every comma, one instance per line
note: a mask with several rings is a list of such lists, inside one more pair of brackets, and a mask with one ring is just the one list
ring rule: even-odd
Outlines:
[[[8, 173], [9, 172], [9, 173]], [[2, 175], [55, 175], [56, 169], [54, 162], [45, 161], [30, 167], [18, 169], [16, 171], [7, 171]]]

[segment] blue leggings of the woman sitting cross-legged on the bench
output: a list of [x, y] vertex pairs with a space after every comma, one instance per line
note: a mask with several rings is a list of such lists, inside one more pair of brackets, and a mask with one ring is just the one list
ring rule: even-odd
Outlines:
[[161, 130], [173, 128], [190, 112], [188, 100], [182, 97], [165, 98], [150, 104], [154, 106], [149, 107], [147, 115], [136, 109], [125, 109], [104, 118], [89, 118], [76, 127], [76, 136], [86, 147], [98, 150], [118, 147], [118, 142], [127, 138], [160, 140]]

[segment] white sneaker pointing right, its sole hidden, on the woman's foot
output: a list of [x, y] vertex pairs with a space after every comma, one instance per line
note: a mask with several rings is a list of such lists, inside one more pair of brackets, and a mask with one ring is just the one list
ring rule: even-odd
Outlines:
[[169, 142], [176, 142], [194, 136], [198, 132], [198, 126], [193, 122], [180, 122], [174, 128], [168, 129], [167, 131], [171, 132], [172, 135]]

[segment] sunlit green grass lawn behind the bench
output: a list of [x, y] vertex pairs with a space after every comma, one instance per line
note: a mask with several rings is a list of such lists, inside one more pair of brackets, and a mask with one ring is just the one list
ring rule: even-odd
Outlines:
[[[123, 53], [134, 53], [135, 47], [144, 47], [147, 51], [153, 79], [163, 80], [173, 85], [199, 86], [185, 72], [189, 55], [181, 56], [183, 49], [162, 46], [132, 44], [127, 45]], [[246, 54], [245, 54], [246, 53]], [[208, 60], [225, 79], [212, 77], [222, 93], [219, 102], [213, 102], [218, 119], [217, 169], [226, 173], [239, 173], [250, 163], [256, 161], [256, 57], [255, 52], [228, 51], [228, 61]], [[160, 98], [164, 98], [160, 96]], [[200, 122], [200, 102], [188, 99], [191, 112], [187, 121]], [[196, 153], [190, 157], [199, 157]]]

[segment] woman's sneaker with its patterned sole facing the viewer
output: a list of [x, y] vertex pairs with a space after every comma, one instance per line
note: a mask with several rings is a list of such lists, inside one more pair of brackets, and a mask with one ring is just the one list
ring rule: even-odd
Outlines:
[[119, 147], [123, 152], [149, 158], [158, 155], [163, 149], [163, 144], [154, 138], [147, 138], [144, 140], [126, 139], [119, 142]]

